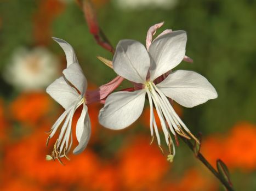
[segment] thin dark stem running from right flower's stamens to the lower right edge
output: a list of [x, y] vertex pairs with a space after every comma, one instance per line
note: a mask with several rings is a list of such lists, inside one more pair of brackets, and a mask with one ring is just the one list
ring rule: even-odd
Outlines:
[[[190, 140], [187, 140], [187, 139], [183, 138], [182, 136], [179, 136], [179, 137], [181, 138], [181, 140], [183, 140], [183, 142], [185, 142], [185, 144], [190, 148], [191, 151], [194, 151], [194, 145], [191, 143]], [[234, 191], [234, 188], [231, 187], [230, 183], [227, 182], [224, 179], [224, 177], [221, 176], [219, 174], [219, 172], [213, 168], [213, 166], [206, 160], [206, 158], [204, 158], [202, 153], [198, 152], [197, 159], [200, 160], [204, 164], [204, 166], [206, 166], [212, 172], [212, 174], [214, 174], [214, 176], [219, 179], [219, 181], [223, 184], [223, 186], [227, 190]]]

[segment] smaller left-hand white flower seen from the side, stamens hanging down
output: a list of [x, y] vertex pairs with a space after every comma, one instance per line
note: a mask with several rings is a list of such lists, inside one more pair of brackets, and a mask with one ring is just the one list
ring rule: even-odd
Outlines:
[[[55, 80], [46, 89], [64, 109], [64, 113], [58, 118], [50, 130], [47, 144], [50, 138], [56, 133], [60, 124], [64, 121], [59, 138], [53, 148], [52, 157], [58, 159], [66, 157], [72, 146], [72, 118], [76, 109], [83, 105], [83, 110], [76, 124], [76, 138], [78, 146], [73, 150], [74, 154], [81, 153], [87, 146], [90, 138], [90, 119], [87, 112], [86, 100], [84, 98], [87, 89], [87, 80], [78, 64], [76, 54], [70, 44], [58, 38], [53, 38], [64, 50], [67, 59], [67, 68], [63, 70], [64, 76]], [[48, 159], [50, 158], [48, 156]], [[67, 157], [66, 157], [67, 158]], [[62, 162], [61, 162], [62, 163]]]

